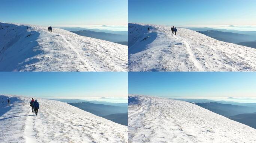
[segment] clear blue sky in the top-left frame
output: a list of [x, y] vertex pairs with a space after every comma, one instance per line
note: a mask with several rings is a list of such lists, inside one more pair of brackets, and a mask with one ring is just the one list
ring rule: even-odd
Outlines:
[[1, 0], [0, 21], [34, 25], [127, 25], [127, 0]]

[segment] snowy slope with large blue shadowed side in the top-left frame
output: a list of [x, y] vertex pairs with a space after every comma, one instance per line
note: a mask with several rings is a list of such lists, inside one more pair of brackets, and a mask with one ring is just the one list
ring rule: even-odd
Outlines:
[[59, 28], [0, 23], [0, 71], [127, 71], [127, 49]]

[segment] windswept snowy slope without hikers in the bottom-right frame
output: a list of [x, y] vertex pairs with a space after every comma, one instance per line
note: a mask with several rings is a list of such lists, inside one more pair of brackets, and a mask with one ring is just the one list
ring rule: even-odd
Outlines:
[[129, 95], [129, 143], [256, 143], [256, 130], [195, 104]]

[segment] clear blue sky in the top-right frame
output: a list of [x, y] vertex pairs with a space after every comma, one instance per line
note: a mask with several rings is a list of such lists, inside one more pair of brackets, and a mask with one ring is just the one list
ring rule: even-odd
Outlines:
[[256, 25], [256, 0], [128, 0], [128, 21], [159, 25]]

